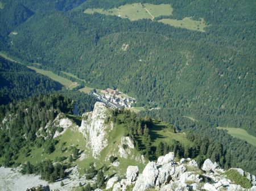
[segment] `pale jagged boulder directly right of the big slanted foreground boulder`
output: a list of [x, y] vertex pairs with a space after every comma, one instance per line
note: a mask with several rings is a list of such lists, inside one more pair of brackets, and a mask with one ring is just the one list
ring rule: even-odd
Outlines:
[[164, 164], [159, 169], [158, 179], [156, 179], [156, 186], [168, 184], [171, 180], [171, 176], [175, 173], [175, 168], [172, 163]]

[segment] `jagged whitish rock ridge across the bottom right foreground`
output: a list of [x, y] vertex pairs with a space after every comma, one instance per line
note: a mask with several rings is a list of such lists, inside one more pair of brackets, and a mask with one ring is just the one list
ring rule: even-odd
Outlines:
[[[229, 179], [227, 172], [233, 170], [236, 178]], [[113, 191], [255, 191], [255, 176], [245, 173], [242, 169], [229, 169], [225, 171], [217, 163], [212, 163], [210, 159], [205, 160], [201, 169], [195, 160], [181, 159], [175, 161], [173, 152], [165, 156], [160, 156], [157, 162], [149, 162], [138, 174], [139, 169], [136, 166], [129, 166], [126, 172], [126, 179], [118, 181], [118, 177], [109, 179], [107, 186]], [[232, 175], [232, 176], [233, 176]], [[240, 180], [237, 180], [240, 179]], [[237, 181], [245, 179], [247, 184], [239, 185]], [[246, 186], [247, 188], [243, 188]], [[111, 189], [110, 189], [111, 188]]]

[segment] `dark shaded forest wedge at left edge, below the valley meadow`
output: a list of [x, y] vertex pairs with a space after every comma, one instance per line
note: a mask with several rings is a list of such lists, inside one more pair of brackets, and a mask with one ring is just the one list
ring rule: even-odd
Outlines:
[[0, 105], [32, 95], [61, 90], [61, 84], [26, 66], [0, 57]]

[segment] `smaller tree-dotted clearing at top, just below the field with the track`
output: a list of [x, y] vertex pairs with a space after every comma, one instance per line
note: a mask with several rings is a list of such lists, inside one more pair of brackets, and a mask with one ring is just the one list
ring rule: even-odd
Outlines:
[[181, 27], [181, 28], [187, 28], [193, 31], [200, 31], [205, 32], [205, 21], [203, 18], [200, 18], [201, 20], [193, 20], [190, 17], [185, 17], [182, 20], [177, 19], [161, 19], [158, 20], [160, 23], [168, 24], [172, 27]]

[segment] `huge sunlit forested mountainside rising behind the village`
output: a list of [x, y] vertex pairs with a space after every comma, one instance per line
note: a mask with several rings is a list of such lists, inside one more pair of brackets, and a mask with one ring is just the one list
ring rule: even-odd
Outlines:
[[[158, 3], [162, 2], [167, 3]], [[252, 1], [240, 2], [239, 7], [229, 1], [191, 6], [171, 2], [176, 18], [205, 18], [206, 32], [81, 12], [123, 3], [131, 2], [88, 1], [71, 12], [35, 15], [17, 28], [18, 35], [11, 36], [11, 50], [48, 69], [76, 74], [90, 86], [118, 87], [142, 105], [151, 101], [152, 107], [209, 119], [214, 126], [241, 127], [256, 135]], [[237, 16], [241, 10], [246, 19]], [[123, 45], [128, 45], [127, 50], [122, 50]]]

